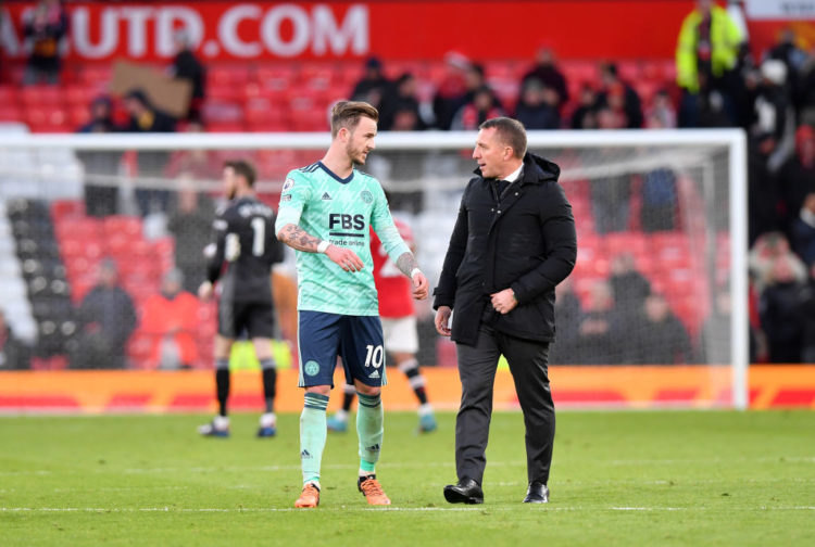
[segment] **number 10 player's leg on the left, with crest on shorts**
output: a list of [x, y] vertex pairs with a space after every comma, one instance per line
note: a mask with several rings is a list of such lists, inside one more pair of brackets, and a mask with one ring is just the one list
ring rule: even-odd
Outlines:
[[336, 314], [300, 311], [300, 387], [305, 387], [300, 415], [300, 465], [303, 491], [294, 507], [319, 504], [319, 468], [325, 449], [326, 407], [334, 386], [334, 368], [340, 340], [340, 318]]

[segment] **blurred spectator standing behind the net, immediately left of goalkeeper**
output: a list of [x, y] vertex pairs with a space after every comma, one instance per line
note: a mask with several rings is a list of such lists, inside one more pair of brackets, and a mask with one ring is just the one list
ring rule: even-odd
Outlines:
[[195, 293], [206, 278], [203, 250], [210, 242], [212, 206], [197, 191], [189, 178], [180, 177], [176, 209], [170, 215], [167, 230], [175, 238], [175, 265], [180, 270], [184, 290]]

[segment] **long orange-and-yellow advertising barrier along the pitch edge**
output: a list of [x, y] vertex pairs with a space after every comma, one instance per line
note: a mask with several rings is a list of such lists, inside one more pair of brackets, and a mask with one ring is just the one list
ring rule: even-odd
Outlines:
[[[384, 390], [388, 410], [415, 408], [403, 374], [389, 369]], [[439, 409], [459, 407], [461, 384], [454, 369], [427, 368], [428, 392]], [[552, 367], [552, 393], [560, 408], [711, 408], [729, 406], [729, 367]], [[51, 371], [7, 372], [0, 384], [2, 414], [206, 412], [215, 410], [212, 372]], [[636, 379], [636, 381], [635, 381]], [[335, 383], [341, 385], [341, 369]], [[302, 409], [297, 370], [279, 372], [276, 408]], [[716, 389], [720, 386], [720, 389]], [[749, 376], [750, 408], [815, 409], [815, 366], [753, 366]], [[340, 404], [331, 398], [329, 407]], [[260, 374], [234, 374], [230, 406], [236, 411], [261, 411]], [[507, 370], [496, 377], [494, 406], [518, 408]]]

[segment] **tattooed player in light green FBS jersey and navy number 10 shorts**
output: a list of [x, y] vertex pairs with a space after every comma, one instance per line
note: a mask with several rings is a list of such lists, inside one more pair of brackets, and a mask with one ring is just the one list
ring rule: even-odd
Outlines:
[[337, 356], [360, 397], [356, 486], [371, 505], [390, 505], [376, 479], [383, 443], [385, 349], [371, 257], [371, 228], [397, 268], [427, 297], [427, 278], [399, 236], [379, 182], [354, 168], [374, 150], [379, 113], [365, 102], [331, 109], [331, 144], [322, 161], [289, 173], [275, 231], [297, 251], [300, 416], [303, 489], [294, 507], [319, 504], [319, 468], [326, 443], [328, 396]]

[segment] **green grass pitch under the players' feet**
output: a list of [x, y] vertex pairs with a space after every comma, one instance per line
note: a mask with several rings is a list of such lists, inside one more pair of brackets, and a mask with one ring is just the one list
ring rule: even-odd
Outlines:
[[438, 418], [418, 435], [387, 415], [390, 507], [356, 492], [355, 433], [330, 434], [311, 510], [292, 507], [296, 415], [272, 440], [250, 415], [228, 440], [200, 438], [202, 416], [0, 418], [0, 545], [815, 545], [815, 412], [561, 412], [534, 507], [519, 414], [493, 417], [477, 507], [442, 497], [454, 417]]

